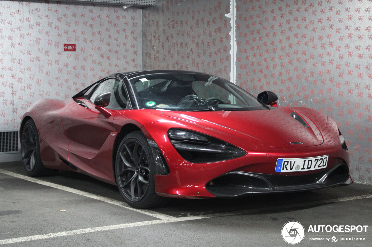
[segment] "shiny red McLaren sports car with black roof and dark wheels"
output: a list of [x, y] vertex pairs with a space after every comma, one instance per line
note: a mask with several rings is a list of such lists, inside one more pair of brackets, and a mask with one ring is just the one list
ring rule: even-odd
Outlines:
[[23, 163], [30, 176], [116, 184], [135, 208], [351, 184], [336, 123], [277, 100], [204, 73], [116, 73], [66, 101], [36, 101], [20, 125]]

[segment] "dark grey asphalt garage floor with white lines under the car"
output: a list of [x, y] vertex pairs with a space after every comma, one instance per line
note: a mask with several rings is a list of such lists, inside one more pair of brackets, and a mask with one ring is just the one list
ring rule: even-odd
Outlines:
[[[116, 186], [88, 176], [30, 178], [22, 163], [0, 163], [3, 246], [291, 246], [281, 235], [288, 221], [304, 225], [298, 246], [372, 246], [371, 205], [372, 186], [352, 184], [232, 200], [173, 199], [163, 208], [135, 210]], [[308, 232], [310, 225], [369, 227], [311, 236], [321, 233]]]

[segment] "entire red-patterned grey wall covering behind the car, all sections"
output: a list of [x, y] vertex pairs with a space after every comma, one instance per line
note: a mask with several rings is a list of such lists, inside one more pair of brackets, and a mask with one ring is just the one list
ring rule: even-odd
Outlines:
[[[38, 98], [68, 98], [117, 71], [143, 66], [230, 79], [231, 2], [158, 0], [124, 10], [0, 1], [0, 129], [17, 129]], [[353, 178], [372, 184], [372, 0], [235, 3], [236, 83], [334, 118]], [[77, 51], [63, 52], [63, 43]]]

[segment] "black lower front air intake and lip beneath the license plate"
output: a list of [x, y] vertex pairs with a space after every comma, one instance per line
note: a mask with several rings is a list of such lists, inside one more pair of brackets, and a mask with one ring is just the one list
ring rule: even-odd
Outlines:
[[273, 175], [232, 171], [208, 182], [205, 189], [216, 197], [241, 197], [248, 194], [294, 192], [349, 185], [352, 179], [346, 164], [306, 175]]

